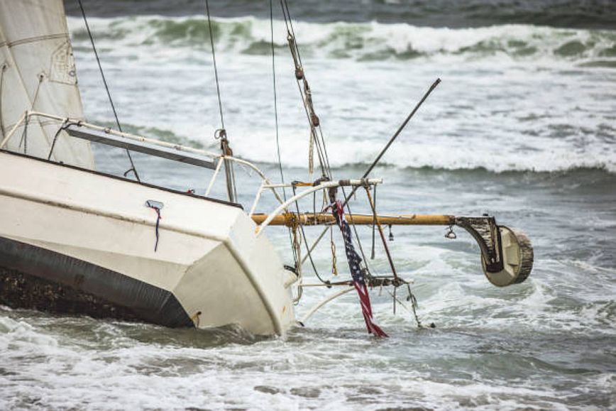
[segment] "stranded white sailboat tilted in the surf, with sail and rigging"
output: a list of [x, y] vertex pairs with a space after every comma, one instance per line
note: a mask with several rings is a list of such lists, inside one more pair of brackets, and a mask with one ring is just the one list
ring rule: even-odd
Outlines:
[[[318, 151], [324, 141], [317, 135], [318, 117], [292, 28], [289, 35]], [[324, 170], [315, 181], [274, 183], [253, 163], [233, 157], [224, 130], [218, 135], [221, 152], [213, 153], [89, 124], [62, 0], [0, 1], [0, 132], [3, 305], [166, 327], [236, 324], [253, 334], [283, 336], [298, 324], [302, 265], [314, 245], [302, 257], [299, 241], [292, 241], [295, 265], [284, 265], [264, 234], [275, 225], [287, 226], [296, 240], [304, 236], [306, 225], [337, 224], [345, 230], [349, 224], [367, 224], [378, 226], [381, 236], [384, 225], [460, 226], [478, 242], [491, 283], [521, 283], [532, 269], [530, 241], [520, 231], [498, 226], [493, 217], [383, 216], [371, 199], [373, 214], [344, 214], [348, 196], [336, 199], [336, 190], [365, 188], [369, 197], [381, 182], [369, 172], [358, 179], [333, 180]], [[109, 175], [97, 170], [92, 142], [209, 169], [211, 180], [203, 194], [195, 194], [142, 182], [134, 167], [129, 172], [136, 178]], [[260, 177], [250, 210], [236, 201], [233, 164]], [[221, 175], [226, 177], [226, 199], [211, 197]], [[285, 187], [302, 191], [286, 199], [281, 195]], [[265, 192], [279, 205], [258, 214]], [[339, 207], [300, 212], [299, 200], [315, 192], [326, 193]], [[350, 231], [343, 232], [352, 243]], [[389, 253], [387, 257], [392, 263]], [[352, 265], [350, 260], [351, 270]], [[370, 287], [408, 285], [391, 265], [391, 278], [377, 278], [365, 267], [361, 275]], [[353, 290], [352, 280], [326, 285]], [[370, 331], [368, 319], [367, 325]]]

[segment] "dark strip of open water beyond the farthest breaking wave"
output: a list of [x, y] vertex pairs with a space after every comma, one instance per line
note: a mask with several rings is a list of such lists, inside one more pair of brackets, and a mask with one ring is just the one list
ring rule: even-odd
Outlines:
[[[266, 1], [210, 0], [219, 17], [258, 16], [269, 18]], [[75, 1], [65, 4], [67, 13], [80, 16]], [[380, 21], [414, 26], [478, 27], [493, 24], [535, 24], [538, 26], [607, 28], [614, 27], [616, 4], [610, 0], [302, 0], [290, 2], [295, 18], [319, 23]], [[204, 4], [194, 0], [106, 0], [90, 1], [89, 15], [98, 17], [152, 15], [202, 15]], [[275, 16], [280, 7], [275, 5]]]

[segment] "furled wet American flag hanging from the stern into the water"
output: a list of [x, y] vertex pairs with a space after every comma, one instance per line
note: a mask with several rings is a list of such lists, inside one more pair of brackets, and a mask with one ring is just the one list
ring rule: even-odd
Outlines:
[[385, 331], [374, 322], [372, 315], [372, 307], [370, 306], [370, 295], [368, 295], [368, 287], [365, 285], [365, 279], [360, 267], [361, 258], [353, 247], [353, 240], [351, 239], [351, 227], [348, 226], [346, 219], [344, 218], [344, 209], [340, 200], [336, 200], [336, 209], [334, 210], [334, 216], [338, 221], [338, 226], [342, 231], [342, 237], [344, 239], [344, 248], [346, 250], [346, 259], [348, 260], [348, 268], [351, 269], [351, 277], [353, 278], [353, 285], [359, 296], [359, 302], [361, 304], [361, 312], [363, 319], [365, 320], [365, 327], [368, 328], [368, 334], [374, 334], [375, 336], [387, 336]]

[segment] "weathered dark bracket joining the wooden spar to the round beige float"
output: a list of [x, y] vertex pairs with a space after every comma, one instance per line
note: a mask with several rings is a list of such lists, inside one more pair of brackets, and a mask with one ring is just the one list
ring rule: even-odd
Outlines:
[[477, 241], [488, 273], [503, 269], [500, 229], [494, 217], [456, 217], [456, 226], [468, 231]]

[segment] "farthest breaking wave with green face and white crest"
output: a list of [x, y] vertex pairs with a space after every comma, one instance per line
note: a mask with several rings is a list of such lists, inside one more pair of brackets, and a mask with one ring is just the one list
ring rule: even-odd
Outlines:
[[[91, 18], [99, 42], [126, 46], [209, 48], [207, 20], [202, 17], [134, 16]], [[78, 18], [69, 18], [75, 45], [87, 47]], [[312, 57], [353, 60], [409, 60], [419, 57], [480, 59], [503, 55], [515, 60], [568, 60], [599, 67], [616, 66], [616, 32], [525, 25], [479, 28], [432, 28], [406, 23], [295, 24], [302, 53]], [[216, 47], [222, 52], [268, 55], [268, 20], [216, 18]], [[275, 46], [286, 48], [285, 26], [275, 21]], [[111, 43], [108, 43], [111, 42]]]

